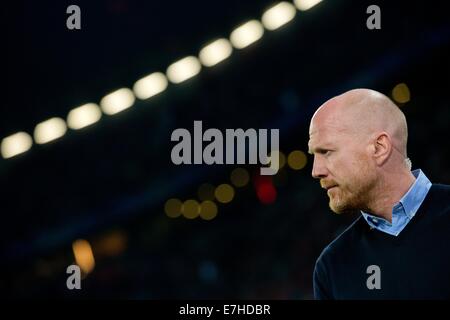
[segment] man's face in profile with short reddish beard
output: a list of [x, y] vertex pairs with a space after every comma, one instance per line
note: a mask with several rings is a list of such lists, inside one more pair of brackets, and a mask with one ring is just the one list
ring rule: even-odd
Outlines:
[[365, 210], [376, 184], [367, 141], [329, 121], [313, 119], [308, 145], [314, 155], [312, 176], [327, 190], [331, 210]]

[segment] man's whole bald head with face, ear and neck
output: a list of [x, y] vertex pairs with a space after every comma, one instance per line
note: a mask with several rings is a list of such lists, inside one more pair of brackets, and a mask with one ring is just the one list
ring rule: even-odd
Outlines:
[[337, 213], [363, 210], [391, 221], [414, 182], [403, 112], [385, 95], [355, 89], [325, 102], [309, 127], [312, 176]]

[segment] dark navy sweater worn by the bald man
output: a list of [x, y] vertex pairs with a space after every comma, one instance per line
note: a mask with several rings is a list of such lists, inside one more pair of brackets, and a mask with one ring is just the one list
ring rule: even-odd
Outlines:
[[360, 216], [323, 250], [313, 284], [316, 299], [450, 299], [450, 186], [433, 184], [397, 237]]

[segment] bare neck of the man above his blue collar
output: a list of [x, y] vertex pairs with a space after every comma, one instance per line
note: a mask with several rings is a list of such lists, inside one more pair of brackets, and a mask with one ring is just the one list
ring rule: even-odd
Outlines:
[[398, 174], [390, 172], [380, 179], [374, 190], [374, 200], [368, 209], [373, 215], [382, 217], [392, 223], [392, 208], [408, 192], [416, 178], [410, 171], [401, 171]]

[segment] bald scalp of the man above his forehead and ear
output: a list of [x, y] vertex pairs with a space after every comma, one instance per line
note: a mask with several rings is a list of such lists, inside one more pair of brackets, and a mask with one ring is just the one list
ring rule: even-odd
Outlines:
[[386, 132], [393, 148], [407, 157], [405, 116], [388, 97], [374, 90], [354, 89], [325, 102], [311, 120], [310, 135], [318, 130], [335, 130], [355, 139]]

